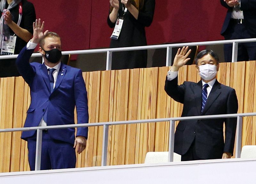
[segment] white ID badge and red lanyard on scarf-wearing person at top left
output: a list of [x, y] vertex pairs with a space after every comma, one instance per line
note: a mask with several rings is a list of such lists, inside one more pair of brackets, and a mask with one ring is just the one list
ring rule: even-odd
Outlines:
[[[21, 18], [22, 18], [22, 4], [20, 2], [20, 4], [19, 4], [19, 20], [17, 23], [18, 26], [20, 26]], [[10, 35], [10, 39], [7, 39], [7, 38], [5, 38], [5, 36], [3, 36], [1, 55], [13, 55], [14, 54], [16, 38], [17, 38], [17, 36], [15, 36], [15, 34], [13, 36]]]

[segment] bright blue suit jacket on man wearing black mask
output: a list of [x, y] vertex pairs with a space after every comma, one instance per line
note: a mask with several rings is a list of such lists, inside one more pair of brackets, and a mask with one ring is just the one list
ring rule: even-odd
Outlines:
[[[77, 122], [88, 123], [87, 92], [82, 71], [61, 64], [55, 88], [51, 93], [50, 79], [44, 64], [29, 63], [34, 49], [27, 50], [26, 46], [17, 57], [17, 68], [30, 87], [31, 103], [27, 111], [24, 127], [36, 127], [40, 123], [46, 108], [47, 125], [74, 124], [74, 109], [76, 106]], [[74, 144], [75, 129], [50, 129], [52, 139]], [[27, 140], [35, 136], [36, 131], [24, 131], [21, 138]], [[88, 128], [78, 128], [76, 136], [87, 138]]]

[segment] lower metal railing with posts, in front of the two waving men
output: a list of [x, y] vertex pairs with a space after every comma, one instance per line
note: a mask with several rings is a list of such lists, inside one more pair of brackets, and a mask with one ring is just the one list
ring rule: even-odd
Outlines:
[[124, 125], [124, 124], [139, 124], [139, 123], [153, 123], [153, 122], [170, 122], [169, 129], [169, 147], [168, 147], [168, 161], [173, 161], [173, 148], [174, 148], [174, 128], [175, 121], [182, 120], [202, 120], [202, 119], [217, 119], [217, 118], [237, 118], [236, 126], [236, 158], [240, 158], [241, 145], [242, 145], [242, 123], [243, 117], [256, 116], [256, 113], [242, 113], [242, 114], [220, 114], [220, 115], [205, 115], [205, 116], [190, 116], [190, 117], [177, 117], [177, 118], [161, 118], [150, 120], [132, 120], [132, 121], [114, 121], [114, 122], [100, 122], [100, 123], [85, 123], [85, 124], [72, 124], [72, 125], [54, 125], [54, 126], [42, 126], [42, 127], [26, 127], [26, 128], [13, 128], [13, 129], [0, 129], [1, 132], [15, 132], [15, 131], [29, 131], [36, 130], [36, 165], [35, 170], [40, 170], [41, 166], [41, 147], [42, 147], [42, 130], [43, 129], [63, 129], [63, 128], [77, 128], [77, 127], [95, 127], [103, 126], [103, 140], [102, 140], [102, 156], [101, 166], [107, 165], [107, 153], [108, 153], [108, 127], [109, 125]]

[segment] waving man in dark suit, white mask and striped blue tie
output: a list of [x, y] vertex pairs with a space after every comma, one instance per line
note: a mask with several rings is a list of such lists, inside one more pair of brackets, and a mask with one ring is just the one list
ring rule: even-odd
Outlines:
[[[181, 116], [237, 113], [235, 90], [216, 80], [219, 58], [212, 50], [203, 50], [196, 56], [196, 68], [201, 80], [178, 85], [178, 70], [190, 59], [187, 58], [190, 52], [188, 47], [179, 48], [164, 87], [172, 99], [183, 104]], [[235, 134], [236, 118], [180, 121], [174, 136], [174, 152], [181, 155], [181, 161], [231, 158]]]

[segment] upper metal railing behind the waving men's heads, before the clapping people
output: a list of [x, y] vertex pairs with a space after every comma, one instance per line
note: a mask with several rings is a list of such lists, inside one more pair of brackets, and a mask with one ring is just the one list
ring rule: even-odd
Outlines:
[[[129, 51], [129, 50], [145, 50], [145, 49], [157, 49], [166, 48], [166, 66], [171, 66], [172, 63], [172, 48], [183, 46], [202, 46], [202, 45], [218, 45], [228, 44], [233, 45], [232, 48], [232, 62], [237, 61], [237, 48], [238, 43], [244, 42], [256, 42], [256, 38], [250, 39], [237, 39], [237, 40], [218, 40], [218, 41], [202, 41], [202, 42], [190, 42], [190, 43], [175, 43], [175, 44], [162, 44], [162, 45], [149, 45], [138, 47], [123, 47], [123, 48], [103, 48], [103, 49], [89, 49], [89, 50], [74, 50], [74, 51], [62, 51], [62, 55], [73, 54], [91, 54], [91, 53], [107, 53], [106, 70], [111, 70], [112, 52]], [[176, 53], [174, 53], [176, 54]], [[42, 56], [40, 53], [34, 53], [31, 57]], [[1, 55], [0, 59], [17, 58], [18, 55]]]

